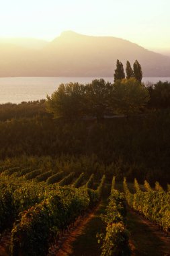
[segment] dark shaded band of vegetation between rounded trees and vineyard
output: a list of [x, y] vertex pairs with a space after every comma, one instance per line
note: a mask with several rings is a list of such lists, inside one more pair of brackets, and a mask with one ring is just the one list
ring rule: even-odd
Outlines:
[[1, 122], [0, 131], [1, 159], [23, 154], [54, 159], [94, 155], [98, 169], [110, 170], [110, 177], [169, 182], [169, 110], [102, 122], [13, 119]]

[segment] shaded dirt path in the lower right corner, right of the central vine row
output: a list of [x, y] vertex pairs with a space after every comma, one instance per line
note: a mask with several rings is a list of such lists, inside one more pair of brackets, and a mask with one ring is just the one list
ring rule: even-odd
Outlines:
[[151, 222], [128, 209], [132, 256], [170, 256], [170, 237]]

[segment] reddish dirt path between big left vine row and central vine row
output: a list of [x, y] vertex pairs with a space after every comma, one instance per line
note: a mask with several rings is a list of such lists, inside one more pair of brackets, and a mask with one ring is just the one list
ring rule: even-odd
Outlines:
[[75, 230], [66, 238], [57, 256], [99, 256], [101, 245], [97, 243], [97, 232], [105, 232], [105, 223], [101, 220], [101, 214], [105, 212], [108, 204], [110, 185], [105, 185], [105, 192], [101, 203], [97, 208], [84, 218]]

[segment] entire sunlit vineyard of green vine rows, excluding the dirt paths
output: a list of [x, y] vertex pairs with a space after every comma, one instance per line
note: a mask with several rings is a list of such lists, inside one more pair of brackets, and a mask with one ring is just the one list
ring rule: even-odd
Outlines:
[[95, 211], [103, 197], [103, 230], [95, 234], [100, 251], [96, 255], [132, 254], [129, 209], [169, 235], [169, 184], [165, 190], [158, 182], [151, 188], [147, 181], [139, 185], [136, 179], [134, 185], [126, 179], [117, 183], [115, 177], [111, 183], [104, 174], [99, 178], [85, 172], [43, 169], [35, 164], [2, 165], [0, 175], [0, 233], [1, 239], [7, 232], [10, 237], [4, 255], [58, 255], [62, 237], [83, 216]]

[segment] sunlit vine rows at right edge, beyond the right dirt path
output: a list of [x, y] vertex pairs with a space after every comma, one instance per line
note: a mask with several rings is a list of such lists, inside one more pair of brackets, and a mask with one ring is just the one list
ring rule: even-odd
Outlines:
[[[163, 191], [159, 183], [155, 186], [157, 190], [148, 188], [144, 192], [136, 184], [135, 180], [136, 193], [132, 194], [124, 179], [124, 192], [130, 207], [166, 232], [170, 232], [170, 193]], [[146, 182], [144, 184], [146, 186]]]

